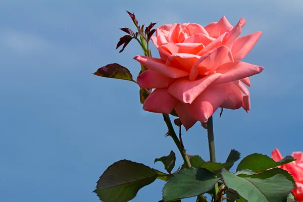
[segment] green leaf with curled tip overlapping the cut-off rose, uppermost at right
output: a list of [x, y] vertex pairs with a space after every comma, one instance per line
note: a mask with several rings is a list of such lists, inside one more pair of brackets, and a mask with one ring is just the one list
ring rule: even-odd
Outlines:
[[238, 165], [237, 171], [248, 169], [253, 172], [259, 173], [261, 171], [268, 170], [277, 166], [288, 164], [294, 161], [293, 157], [286, 156], [279, 162], [275, 162], [273, 159], [262, 154], [252, 154], [245, 157]]

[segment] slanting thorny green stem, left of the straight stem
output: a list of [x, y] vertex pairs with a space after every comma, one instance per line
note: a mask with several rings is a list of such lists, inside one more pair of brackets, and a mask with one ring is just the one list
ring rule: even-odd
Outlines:
[[185, 151], [185, 148], [184, 147], [181, 147], [181, 144], [180, 144], [180, 140], [178, 139], [178, 136], [174, 130], [174, 127], [173, 127], [173, 124], [169, 118], [169, 115], [168, 114], [163, 114], [163, 118], [164, 118], [164, 121], [167, 125], [167, 128], [168, 128], [168, 131], [169, 131], [169, 135], [173, 138], [175, 144], [177, 145], [179, 151], [180, 151], [180, 154], [184, 160], [184, 163], [187, 165], [188, 168], [191, 168], [191, 165], [190, 165], [190, 162], [189, 162], [189, 158], [186, 154], [186, 151]]

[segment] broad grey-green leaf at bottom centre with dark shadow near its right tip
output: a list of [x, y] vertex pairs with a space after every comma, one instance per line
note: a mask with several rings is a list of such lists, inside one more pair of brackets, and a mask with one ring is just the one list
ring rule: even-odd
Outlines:
[[211, 190], [219, 179], [204, 168], [180, 170], [165, 184], [163, 200], [167, 202], [203, 194]]

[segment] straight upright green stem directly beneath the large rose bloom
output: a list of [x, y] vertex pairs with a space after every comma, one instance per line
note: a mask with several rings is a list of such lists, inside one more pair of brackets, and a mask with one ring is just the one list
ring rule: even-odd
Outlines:
[[[209, 140], [209, 150], [210, 150], [210, 159], [211, 162], [216, 162], [216, 152], [215, 152], [215, 139], [214, 139], [214, 126], [213, 126], [213, 116], [211, 116], [207, 122], [207, 136]], [[214, 187], [214, 198], [216, 199], [219, 187], [218, 183]]]

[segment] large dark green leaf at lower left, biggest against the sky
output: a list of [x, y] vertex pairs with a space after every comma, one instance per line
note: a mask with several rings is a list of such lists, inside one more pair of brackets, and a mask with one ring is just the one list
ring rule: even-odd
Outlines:
[[153, 169], [121, 160], [108, 167], [93, 192], [104, 202], [126, 202], [134, 198], [140, 188], [156, 179], [157, 173]]

